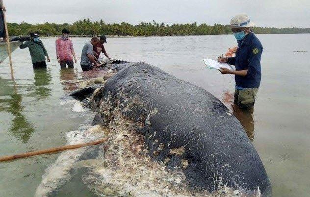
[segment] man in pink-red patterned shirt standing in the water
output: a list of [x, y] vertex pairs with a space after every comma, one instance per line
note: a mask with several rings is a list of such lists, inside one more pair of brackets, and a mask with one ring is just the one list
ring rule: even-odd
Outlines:
[[68, 29], [62, 30], [62, 36], [56, 40], [56, 55], [57, 61], [60, 64], [61, 69], [65, 69], [66, 65], [69, 68], [74, 68], [73, 59], [77, 63], [76, 54], [73, 49], [72, 41], [69, 39], [70, 31]]

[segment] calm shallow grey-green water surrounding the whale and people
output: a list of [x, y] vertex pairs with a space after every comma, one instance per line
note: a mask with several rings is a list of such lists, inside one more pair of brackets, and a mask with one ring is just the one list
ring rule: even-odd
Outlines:
[[[108, 38], [112, 58], [145, 61], [200, 86], [229, 107], [247, 130], [273, 186], [273, 196], [310, 194], [310, 34], [258, 35], [264, 50], [262, 81], [253, 111], [232, 106], [233, 76], [204, 67], [203, 58], [216, 58], [233, 47], [231, 35]], [[33, 71], [27, 49], [13, 52], [15, 83], [6, 59], [0, 65], [0, 155], [66, 144], [65, 134], [91, 121], [91, 112], [73, 112], [64, 93], [74, 89], [68, 80], [81, 69], [60, 71], [55, 39], [42, 39], [52, 62]], [[78, 56], [87, 38], [74, 38]], [[0, 164], [0, 196], [33, 196], [47, 167], [59, 154]], [[80, 173], [55, 196], [92, 196]]]

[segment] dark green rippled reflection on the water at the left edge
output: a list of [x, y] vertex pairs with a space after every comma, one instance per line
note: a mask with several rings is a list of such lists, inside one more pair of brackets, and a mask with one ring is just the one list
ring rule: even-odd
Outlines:
[[10, 125], [10, 131], [14, 136], [19, 137], [24, 143], [27, 143], [31, 134], [35, 131], [33, 125], [27, 121], [22, 103], [22, 96], [17, 94], [16, 84], [8, 79], [0, 78], [1, 89], [0, 91], [0, 112], [11, 113], [14, 118]]

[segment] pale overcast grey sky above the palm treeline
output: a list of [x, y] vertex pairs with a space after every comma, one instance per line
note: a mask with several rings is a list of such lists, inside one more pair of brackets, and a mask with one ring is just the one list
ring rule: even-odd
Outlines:
[[7, 21], [31, 24], [105, 23], [229, 24], [246, 13], [257, 26], [310, 27], [310, 0], [3, 0]]

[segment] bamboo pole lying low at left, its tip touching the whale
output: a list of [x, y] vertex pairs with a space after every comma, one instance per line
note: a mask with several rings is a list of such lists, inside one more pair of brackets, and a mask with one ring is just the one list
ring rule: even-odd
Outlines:
[[77, 144], [77, 145], [67, 145], [67, 146], [63, 146], [63, 147], [48, 148], [48, 149], [37, 150], [37, 151], [33, 151], [33, 152], [26, 152], [26, 153], [22, 153], [22, 154], [2, 156], [2, 157], [0, 157], [0, 162], [9, 161], [9, 160], [13, 160], [13, 159], [19, 159], [19, 158], [25, 158], [25, 157], [31, 157], [31, 156], [35, 156], [35, 155], [47, 154], [47, 153], [55, 153], [55, 152], [59, 152], [59, 151], [69, 150], [69, 149], [94, 146], [94, 145], [102, 144], [105, 141], [107, 141], [107, 138], [103, 138], [101, 140], [89, 142], [89, 143], [83, 143], [83, 144]]

